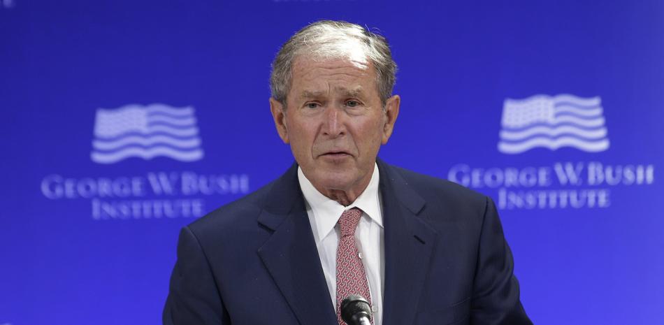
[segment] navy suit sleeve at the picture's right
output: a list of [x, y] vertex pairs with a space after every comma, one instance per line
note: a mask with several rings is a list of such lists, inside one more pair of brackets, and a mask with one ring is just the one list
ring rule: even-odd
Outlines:
[[512, 252], [491, 198], [486, 198], [477, 254], [470, 324], [532, 325], [519, 299]]

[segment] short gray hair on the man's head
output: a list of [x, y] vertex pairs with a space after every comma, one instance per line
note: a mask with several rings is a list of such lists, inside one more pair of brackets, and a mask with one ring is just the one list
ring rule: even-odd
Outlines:
[[[359, 45], [359, 46], [358, 46]], [[300, 55], [319, 58], [351, 58], [352, 48], [361, 49], [362, 60], [368, 59], [376, 71], [376, 86], [382, 105], [392, 94], [396, 82], [396, 63], [387, 39], [358, 24], [321, 20], [308, 24], [282, 45], [272, 62], [270, 90], [272, 97], [286, 107], [291, 87], [293, 63]]]

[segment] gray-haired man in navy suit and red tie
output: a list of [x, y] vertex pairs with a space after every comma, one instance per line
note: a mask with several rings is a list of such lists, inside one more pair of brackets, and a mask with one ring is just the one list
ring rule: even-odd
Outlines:
[[387, 41], [308, 25], [273, 62], [270, 110], [296, 164], [182, 229], [164, 324], [531, 324], [490, 198], [377, 159], [399, 113]]

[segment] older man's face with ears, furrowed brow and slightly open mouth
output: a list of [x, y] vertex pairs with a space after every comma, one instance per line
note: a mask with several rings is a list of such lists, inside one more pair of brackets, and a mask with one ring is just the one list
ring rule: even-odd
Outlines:
[[277, 101], [270, 106], [277, 131], [312, 185], [326, 195], [347, 192], [352, 202], [368, 185], [399, 101], [393, 96], [383, 109], [373, 64], [298, 58], [285, 114]]

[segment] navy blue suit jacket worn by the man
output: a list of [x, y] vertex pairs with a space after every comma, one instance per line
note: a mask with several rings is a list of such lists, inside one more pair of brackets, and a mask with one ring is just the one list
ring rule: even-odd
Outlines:
[[[491, 199], [377, 164], [383, 324], [531, 324]], [[163, 321], [337, 324], [296, 165], [182, 229]]]

